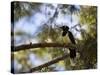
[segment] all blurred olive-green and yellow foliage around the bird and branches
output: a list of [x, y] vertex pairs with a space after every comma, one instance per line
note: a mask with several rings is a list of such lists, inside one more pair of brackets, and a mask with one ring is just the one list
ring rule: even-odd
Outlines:
[[[32, 15], [32, 11], [39, 12], [39, 6], [41, 3], [27, 3], [27, 2], [15, 2], [14, 3], [14, 19], [17, 22], [21, 17], [26, 15]], [[51, 6], [48, 4], [48, 7]], [[54, 65], [47, 66], [38, 72], [49, 72], [49, 71], [59, 71], [63, 67], [63, 70], [79, 70], [79, 69], [93, 69], [97, 67], [97, 7], [95, 6], [80, 6], [79, 9], [75, 8], [74, 5], [59, 5], [57, 9], [61, 11], [57, 11], [66, 15], [68, 14], [68, 10], [70, 11], [70, 15], [74, 13], [74, 15], [79, 14], [80, 18], [80, 32], [82, 39], [76, 39], [78, 45], [78, 58], [75, 66], [70, 64], [70, 58], [66, 58], [63, 61], [55, 63]], [[70, 8], [69, 8], [70, 7]], [[66, 11], [67, 10], [67, 11]], [[79, 11], [80, 10], [80, 11]], [[78, 11], [78, 12], [77, 12]], [[30, 16], [31, 16], [30, 15]], [[57, 14], [59, 16], [59, 14]], [[57, 16], [56, 15], [56, 16]], [[68, 14], [69, 15], [69, 14]], [[48, 17], [48, 16], [47, 16]], [[55, 17], [53, 17], [55, 18]], [[57, 17], [56, 17], [57, 18]], [[55, 19], [56, 19], [55, 18]], [[54, 21], [54, 20], [53, 20]], [[36, 38], [38, 38], [39, 42], [58, 42], [58, 43], [69, 43], [68, 37], [64, 37], [62, 39], [61, 30], [52, 28], [51, 25], [46, 23], [42, 26], [42, 30], [39, 34], [37, 34]], [[86, 25], [86, 29], [82, 29], [82, 27]], [[27, 33], [23, 31], [16, 32], [15, 35], [26, 35]], [[26, 41], [26, 40], [25, 40]], [[68, 53], [68, 49], [64, 48], [36, 48], [29, 49], [26, 51], [19, 51], [12, 53], [14, 55], [14, 59], [16, 59], [19, 64], [22, 64], [21, 71], [29, 70], [30, 68], [36, 66], [33, 65], [32, 62], [29, 62], [30, 54], [35, 54], [36, 57], [42, 61], [49, 61], [53, 58], [58, 57], [59, 55], [63, 55], [64, 53]], [[77, 53], [78, 53], [77, 52]], [[12, 61], [14, 60], [12, 59]], [[33, 60], [32, 60], [33, 61]], [[60, 68], [59, 68], [60, 66]], [[59, 69], [57, 69], [59, 68]], [[19, 72], [19, 71], [18, 71]]]

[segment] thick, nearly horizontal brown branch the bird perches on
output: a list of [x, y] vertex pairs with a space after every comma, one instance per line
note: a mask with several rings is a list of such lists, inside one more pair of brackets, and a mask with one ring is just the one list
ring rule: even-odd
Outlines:
[[27, 50], [30, 48], [44, 48], [44, 47], [65, 47], [65, 48], [75, 48], [72, 44], [60, 44], [60, 43], [36, 43], [36, 44], [25, 44], [21, 46], [11, 46], [11, 51]]

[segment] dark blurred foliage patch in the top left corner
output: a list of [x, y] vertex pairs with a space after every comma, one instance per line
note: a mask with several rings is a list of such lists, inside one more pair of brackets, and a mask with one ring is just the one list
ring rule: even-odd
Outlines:
[[41, 3], [28, 3], [28, 2], [14, 2], [14, 21], [17, 21], [19, 18], [24, 16], [31, 16], [33, 14], [33, 9], [39, 11], [38, 7]]

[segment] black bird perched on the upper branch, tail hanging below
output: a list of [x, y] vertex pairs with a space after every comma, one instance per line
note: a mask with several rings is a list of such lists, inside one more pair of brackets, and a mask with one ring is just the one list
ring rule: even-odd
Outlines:
[[[72, 32], [69, 31], [69, 27], [68, 26], [62, 26], [60, 28], [63, 30], [62, 36], [66, 36], [66, 34], [68, 33], [68, 37], [69, 37], [71, 43], [76, 44]], [[69, 48], [69, 50], [70, 50], [70, 58], [74, 59], [76, 57], [76, 49]]]

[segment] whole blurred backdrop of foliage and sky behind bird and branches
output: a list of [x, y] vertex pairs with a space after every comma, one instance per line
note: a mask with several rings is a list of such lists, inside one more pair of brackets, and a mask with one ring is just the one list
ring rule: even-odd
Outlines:
[[[77, 63], [72, 66], [66, 58], [37, 72], [97, 68], [97, 7], [67, 4], [14, 2], [11, 20], [11, 43], [14, 46], [35, 43], [69, 43], [62, 39], [60, 26], [68, 26], [78, 45]], [[13, 6], [12, 5], [12, 6]], [[13, 43], [14, 42], [14, 43]], [[66, 49], [66, 51], [69, 51]], [[64, 48], [31, 48], [11, 52], [14, 73], [27, 72], [59, 55]]]

